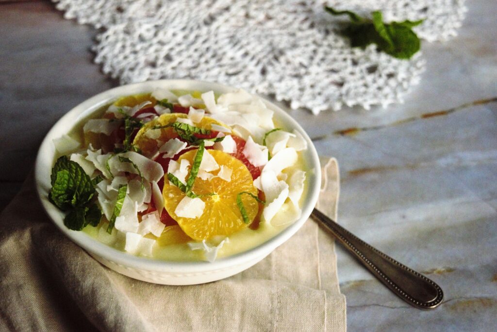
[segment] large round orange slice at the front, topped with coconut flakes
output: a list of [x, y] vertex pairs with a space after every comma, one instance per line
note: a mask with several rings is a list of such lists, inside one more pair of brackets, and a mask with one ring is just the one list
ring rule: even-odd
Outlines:
[[[198, 149], [188, 151], [179, 157], [178, 162], [186, 159], [193, 164]], [[217, 150], [206, 150], [214, 157], [219, 166], [229, 167], [233, 172], [231, 181], [220, 178], [202, 180], [197, 177], [193, 185], [193, 193], [212, 196], [200, 197], [205, 203], [202, 216], [199, 218], [178, 217], [174, 211], [185, 194], [175, 185], [165, 181], [163, 196], [167, 213], [178, 222], [183, 231], [195, 240], [209, 239], [215, 235], [228, 236], [238, 230], [246, 228], [240, 209], [237, 205], [237, 196], [241, 192], [249, 192], [257, 196], [257, 188], [253, 186], [252, 176], [247, 167], [237, 158]], [[191, 166], [190, 166], [191, 170]], [[214, 171], [216, 173], [217, 171]], [[258, 203], [249, 195], [242, 195], [242, 202], [247, 211], [248, 220], [254, 220], [258, 212]]]

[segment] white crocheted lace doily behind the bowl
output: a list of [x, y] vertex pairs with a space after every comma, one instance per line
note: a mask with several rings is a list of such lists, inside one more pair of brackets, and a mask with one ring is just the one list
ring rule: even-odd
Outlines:
[[421, 19], [425, 41], [456, 35], [464, 0], [54, 0], [66, 18], [104, 28], [95, 62], [121, 83], [189, 78], [274, 95], [314, 113], [386, 106], [419, 81], [421, 53], [399, 60], [351, 48], [323, 4], [386, 21]]

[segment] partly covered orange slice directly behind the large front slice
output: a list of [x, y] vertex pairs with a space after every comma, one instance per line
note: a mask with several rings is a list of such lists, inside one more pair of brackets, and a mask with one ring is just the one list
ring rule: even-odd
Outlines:
[[[161, 140], [163, 142], [168, 141], [171, 138], [177, 137], [178, 134], [174, 131], [173, 128], [161, 128], [161, 129], [152, 129], [155, 126], [163, 126], [170, 123], [175, 122], [178, 118], [186, 118], [186, 114], [183, 113], [165, 113], [159, 116], [158, 118], [147, 122], [136, 134], [136, 137], [133, 141], [133, 144], [142, 150], [144, 155], [151, 155], [155, 153], [157, 150], [157, 142], [156, 140]], [[224, 127], [228, 127], [226, 124], [223, 124], [219, 121], [214, 120], [211, 117], [204, 116], [200, 122], [195, 123], [194, 126], [197, 128], [203, 129], [211, 129], [211, 124], [219, 124]], [[158, 138], [150, 138], [146, 135], [148, 130], [160, 130], [160, 136]], [[155, 136], [151, 136], [155, 137]]]

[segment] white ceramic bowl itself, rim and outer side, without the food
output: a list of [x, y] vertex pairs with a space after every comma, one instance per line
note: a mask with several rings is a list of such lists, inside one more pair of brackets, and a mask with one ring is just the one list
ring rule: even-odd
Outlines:
[[264, 100], [264, 103], [274, 111], [275, 119], [283, 127], [298, 130], [307, 140], [309, 148], [307, 151], [302, 151], [302, 153], [309, 166], [309, 172], [307, 172], [309, 190], [303, 202], [302, 217], [273, 238], [248, 251], [216, 260], [213, 263], [168, 262], [138, 257], [109, 247], [84, 232], [68, 229], [64, 226], [64, 214], [48, 201], [48, 192], [51, 188], [50, 174], [55, 158], [55, 147], [52, 140], [67, 133], [83, 117], [113, 102], [118, 97], [151, 92], [157, 87], [169, 90], [213, 90], [217, 93], [228, 93], [237, 90], [209, 82], [161, 80], [121, 86], [86, 100], [64, 115], [48, 132], [41, 144], [35, 166], [36, 187], [41, 203], [57, 227], [97, 261], [135, 279], [165, 285], [192, 285], [220, 280], [246, 270], [285, 242], [304, 224], [316, 205], [321, 186], [321, 168], [318, 153], [311, 139], [290, 115], [266, 100]]

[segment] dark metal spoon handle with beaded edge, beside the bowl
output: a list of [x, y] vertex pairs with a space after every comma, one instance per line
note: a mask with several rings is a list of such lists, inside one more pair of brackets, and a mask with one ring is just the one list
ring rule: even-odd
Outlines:
[[434, 309], [442, 303], [442, 289], [432, 280], [373, 248], [319, 210], [314, 209], [311, 217], [321, 221], [376, 278], [413, 307]]

